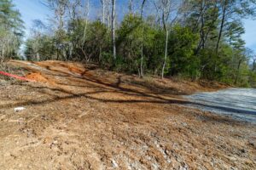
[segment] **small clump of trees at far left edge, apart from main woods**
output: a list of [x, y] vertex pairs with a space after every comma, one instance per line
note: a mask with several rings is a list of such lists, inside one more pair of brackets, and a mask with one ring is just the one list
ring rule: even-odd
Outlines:
[[17, 56], [23, 28], [14, 4], [10, 0], [0, 0], [0, 62]]

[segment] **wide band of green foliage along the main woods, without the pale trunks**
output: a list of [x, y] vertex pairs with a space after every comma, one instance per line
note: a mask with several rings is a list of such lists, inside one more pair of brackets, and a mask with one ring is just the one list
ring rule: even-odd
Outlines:
[[[255, 13], [249, 5], [252, 3], [256, 2], [191, 0], [184, 3], [187, 6], [179, 11], [175, 24], [169, 20], [166, 23], [169, 37], [164, 75], [255, 86], [255, 71], [250, 71], [250, 54], [241, 38], [245, 32], [241, 18]], [[94, 62], [115, 71], [160, 75], [166, 48], [161, 14], [152, 13], [148, 17], [126, 14], [116, 23], [114, 66], [111, 20], [102, 24], [79, 13], [67, 17], [68, 20], [64, 16], [61, 21], [66, 24], [49, 26], [50, 33], [35, 31], [26, 41], [28, 59]], [[3, 37], [7, 31], [1, 28], [0, 37]]]

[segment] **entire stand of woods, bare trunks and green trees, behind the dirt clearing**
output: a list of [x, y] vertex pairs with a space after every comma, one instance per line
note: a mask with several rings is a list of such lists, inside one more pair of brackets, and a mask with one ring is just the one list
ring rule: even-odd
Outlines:
[[[10, 1], [0, 2], [2, 23], [3, 3]], [[26, 59], [93, 62], [140, 77], [157, 75], [240, 86], [256, 84], [255, 55], [245, 48], [241, 38], [245, 33], [242, 20], [255, 17], [255, 0], [42, 0], [42, 3], [52, 15], [47, 23], [34, 20], [31, 36], [25, 42]], [[11, 19], [14, 16], [20, 20], [19, 13], [14, 13], [4, 15], [9, 18], [7, 22], [14, 21]], [[18, 24], [9, 27], [1, 24], [2, 58], [17, 55]], [[2, 36], [7, 40], [16, 38], [17, 42], [6, 39], [2, 42]], [[9, 52], [8, 44], [12, 48]]]

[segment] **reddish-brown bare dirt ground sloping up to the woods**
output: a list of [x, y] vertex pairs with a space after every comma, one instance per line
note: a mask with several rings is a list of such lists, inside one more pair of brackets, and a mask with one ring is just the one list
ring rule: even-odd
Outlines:
[[224, 86], [58, 61], [9, 65], [35, 82], [0, 82], [0, 169], [256, 168], [254, 125], [184, 105], [183, 94]]

